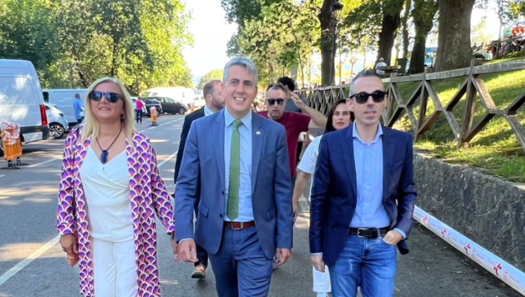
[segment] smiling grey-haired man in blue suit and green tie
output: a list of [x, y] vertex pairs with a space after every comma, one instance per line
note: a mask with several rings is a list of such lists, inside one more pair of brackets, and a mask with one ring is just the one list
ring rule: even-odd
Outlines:
[[227, 63], [223, 88], [225, 109], [194, 121], [186, 140], [175, 193], [178, 257], [197, 261], [197, 242], [210, 255], [219, 297], [267, 296], [273, 261], [286, 263], [293, 241], [286, 132], [252, 112], [252, 61]]

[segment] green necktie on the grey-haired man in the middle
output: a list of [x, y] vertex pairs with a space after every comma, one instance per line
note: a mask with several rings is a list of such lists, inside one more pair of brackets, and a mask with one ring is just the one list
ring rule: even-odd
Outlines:
[[239, 214], [239, 186], [241, 185], [241, 135], [239, 126], [243, 122], [234, 120], [234, 133], [232, 133], [232, 151], [230, 151], [230, 184], [228, 185], [228, 209], [230, 220], [237, 219]]

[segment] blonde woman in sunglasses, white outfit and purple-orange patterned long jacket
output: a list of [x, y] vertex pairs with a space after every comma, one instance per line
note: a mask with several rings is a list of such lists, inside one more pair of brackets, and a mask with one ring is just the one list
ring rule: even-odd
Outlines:
[[168, 192], [148, 137], [133, 129], [133, 102], [115, 78], [87, 90], [85, 124], [67, 137], [56, 228], [80, 294], [161, 296], [155, 213], [172, 236]]

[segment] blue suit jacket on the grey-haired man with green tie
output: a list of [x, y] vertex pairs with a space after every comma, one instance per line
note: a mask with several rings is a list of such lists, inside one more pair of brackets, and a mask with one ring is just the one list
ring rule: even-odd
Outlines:
[[[177, 240], [194, 238], [211, 254], [221, 246], [225, 217], [224, 129], [224, 111], [192, 123], [175, 192]], [[293, 241], [293, 188], [284, 126], [252, 111], [252, 150], [254, 220], [263, 252], [273, 259], [276, 248], [292, 248]], [[194, 230], [193, 204], [199, 196]]]

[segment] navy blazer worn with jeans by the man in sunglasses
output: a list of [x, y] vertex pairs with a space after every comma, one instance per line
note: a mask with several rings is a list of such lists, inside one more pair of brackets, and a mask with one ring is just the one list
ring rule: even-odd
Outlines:
[[[414, 219], [416, 190], [412, 163], [412, 135], [383, 127], [383, 206], [390, 228], [408, 236]], [[322, 137], [310, 208], [310, 252], [323, 253], [326, 265], [335, 264], [341, 253], [357, 205], [357, 179], [353, 151], [353, 129]], [[366, 226], [363, 226], [366, 227]], [[407, 254], [405, 240], [397, 245]]]

